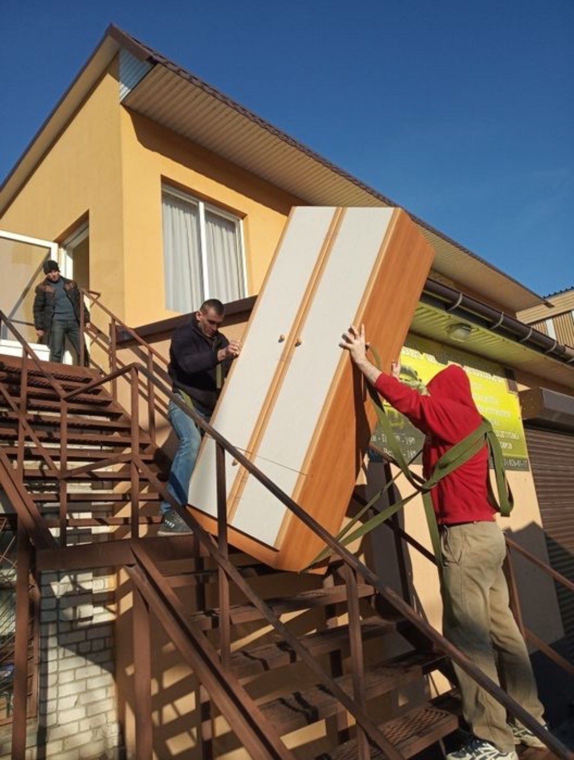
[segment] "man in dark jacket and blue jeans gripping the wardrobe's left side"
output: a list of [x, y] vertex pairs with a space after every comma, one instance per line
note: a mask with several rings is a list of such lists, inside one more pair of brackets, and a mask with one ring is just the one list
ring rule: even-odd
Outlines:
[[[170, 345], [168, 371], [173, 391], [207, 422], [231, 362], [241, 351], [239, 340], [229, 341], [219, 331], [224, 315], [224, 305], [220, 301], [215, 298], [205, 301], [190, 323], [176, 329]], [[168, 416], [179, 438], [179, 447], [173, 458], [167, 490], [179, 504], [185, 505], [189, 480], [198, 458], [201, 430], [173, 401]], [[189, 527], [170, 502], [162, 502], [161, 514], [158, 535], [189, 533]]]

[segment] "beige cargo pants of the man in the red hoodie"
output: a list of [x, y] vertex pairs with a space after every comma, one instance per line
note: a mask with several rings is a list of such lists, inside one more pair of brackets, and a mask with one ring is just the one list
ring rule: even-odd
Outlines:
[[[509, 609], [502, 530], [495, 522], [441, 527], [441, 546], [444, 635], [532, 717], [544, 722], [528, 651]], [[512, 752], [506, 709], [464, 670], [455, 670], [463, 715], [474, 735], [502, 752]]]

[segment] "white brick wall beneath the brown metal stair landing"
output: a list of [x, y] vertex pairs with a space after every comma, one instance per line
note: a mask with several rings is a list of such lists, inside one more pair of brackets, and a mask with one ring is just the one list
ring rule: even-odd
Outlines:
[[[40, 584], [40, 691], [38, 715], [27, 736], [27, 760], [121, 760], [115, 576], [111, 568], [45, 572]], [[45, 750], [38, 753], [37, 746]], [[8, 757], [6, 736], [0, 741], [0, 760]]]

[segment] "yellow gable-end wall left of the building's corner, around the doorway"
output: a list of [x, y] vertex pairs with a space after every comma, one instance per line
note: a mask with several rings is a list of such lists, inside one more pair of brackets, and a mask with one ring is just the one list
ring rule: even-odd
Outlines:
[[0, 228], [62, 240], [89, 215], [90, 287], [106, 305], [124, 311], [122, 169], [116, 62], [30, 176]]

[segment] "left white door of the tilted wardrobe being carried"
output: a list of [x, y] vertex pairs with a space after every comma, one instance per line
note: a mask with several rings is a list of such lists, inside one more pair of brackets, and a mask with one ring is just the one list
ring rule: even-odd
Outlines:
[[[331, 207], [298, 207], [287, 223], [281, 250], [257, 300], [245, 345], [211, 418], [214, 428], [239, 449], [249, 445], [287, 346], [288, 341], [280, 341], [279, 336], [290, 334], [335, 211]], [[229, 456], [226, 465], [229, 496], [243, 467], [233, 466]], [[217, 515], [216, 494], [215, 443], [206, 439], [189, 485], [189, 503], [209, 515]]]

